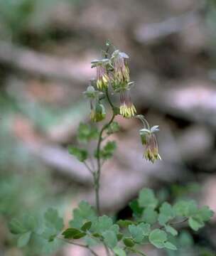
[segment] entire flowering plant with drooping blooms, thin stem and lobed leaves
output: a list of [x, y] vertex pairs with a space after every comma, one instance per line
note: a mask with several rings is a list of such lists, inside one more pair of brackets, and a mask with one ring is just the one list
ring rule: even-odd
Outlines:
[[[129, 56], [115, 49], [110, 53], [110, 48], [111, 44], [108, 42], [107, 50], [103, 52], [104, 58], [92, 61], [96, 78], [90, 81], [84, 92], [90, 101], [91, 124], [80, 124], [77, 132], [78, 141], [84, 145], [96, 140], [94, 155], [91, 156], [83, 146], [68, 147], [69, 153], [81, 161], [92, 174], [95, 208], [85, 201], [80, 202], [73, 210], [72, 220], [66, 225], [68, 228], [64, 228], [63, 219], [53, 208], [45, 212], [43, 220], [34, 216], [11, 220], [9, 228], [11, 233], [18, 236], [20, 247], [40, 237], [46, 248], [58, 242], [68, 242], [85, 247], [96, 256], [98, 253], [95, 247], [98, 244], [104, 246], [107, 256], [125, 256], [130, 253], [145, 255], [146, 244], [158, 249], [178, 250], [176, 238], [180, 233], [180, 223], [188, 223], [192, 230], [198, 231], [213, 215], [210, 208], [198, 208], [195, 201], [177, 201], [173, 205], [161, 202], [149, 188], [143, 188], [138, 198], [129, 203], [133, 211], [130, 219], [114, 221], [114, 218], [101, 215], [99, 186], [102, 164], [112, 157], [117, 147], [116, 142], [107, 142], [107, 139], [110, 134], [119, 131], [119, 124], [114, 122], [118, 114], [126, 119], [136, 117], [141, 121], [144, 127], [139, 130], [139, 136], [141, 144], [144, 145], [144, 158], [152, 163], [161, 160], [156, 139], [158, 126], [150, 127], [144, 116], [136, 115], [136, 107], [131, 102], [130, 90], [134, 82], [131, 82], [129, 75]], [[113, 102], [112, 94], [119, 95], [118, 105]], [[112, 117], [98, 129], [95, 124], [106, 119], [106, 100], [112, 110]]]

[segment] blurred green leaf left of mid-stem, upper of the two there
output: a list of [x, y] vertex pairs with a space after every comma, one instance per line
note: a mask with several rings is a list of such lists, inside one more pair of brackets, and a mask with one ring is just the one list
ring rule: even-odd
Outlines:
[[83, 124], [80, 123], [77, 132], [77, 139], [80, 142], [90, 142], [92, 139], [97, 139], [98, 137], [98, 130], [97, 127], [92, 127], [90, 124]]

